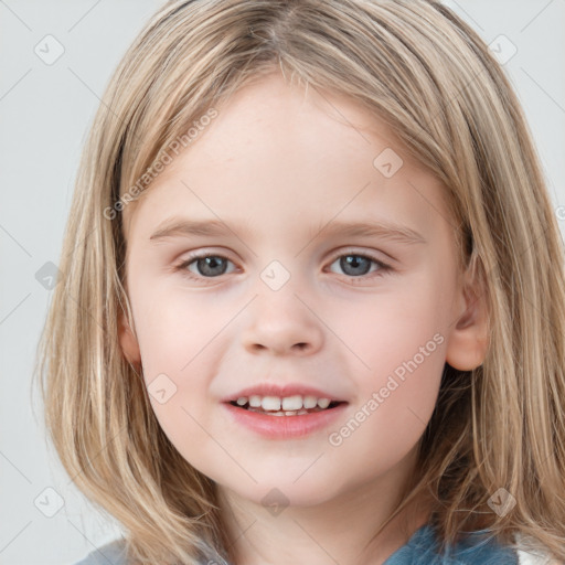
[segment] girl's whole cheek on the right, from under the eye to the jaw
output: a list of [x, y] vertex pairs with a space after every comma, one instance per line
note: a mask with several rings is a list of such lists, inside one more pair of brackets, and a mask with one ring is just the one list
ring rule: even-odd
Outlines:
[[379, 296], [363, 308], [332, 312], [335, 333], [354, 353], [347, 356], [359, 397], [344, 427], [333, 430], [331, 445], [349, 444], [352, 454], [369, 459], [379, 446], [379, 457], [394, 458], [418, 440], [436, 405], [446, 360], [448, 321], [434, 288], [439, 287], [430, 279], [418, 292]]

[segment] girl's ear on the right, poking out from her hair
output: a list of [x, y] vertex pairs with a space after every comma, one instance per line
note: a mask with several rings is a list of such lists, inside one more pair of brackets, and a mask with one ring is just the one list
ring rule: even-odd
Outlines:
[[466, 271], [457, 301], [446, 361], [459, 371], [471, 371], [482, 364], [489, 345], [486, 285], [480, 284], [475, 269]]

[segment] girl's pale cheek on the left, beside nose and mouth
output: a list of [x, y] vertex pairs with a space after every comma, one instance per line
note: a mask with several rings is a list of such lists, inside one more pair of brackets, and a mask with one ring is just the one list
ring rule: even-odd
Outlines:
[[173, 445], [204, 455], [211, 446], [201, 425], [210, 427], [209, 386], [221, 359], [218, 333], [233, 315], [210, 308], [194, 294], [189, 297], [182, 289], [157, 284], [138, 285], [131, 303], [154, 415]]

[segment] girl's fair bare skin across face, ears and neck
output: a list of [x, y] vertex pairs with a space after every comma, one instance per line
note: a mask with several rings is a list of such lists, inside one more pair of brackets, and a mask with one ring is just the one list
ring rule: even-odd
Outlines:
[[[125, 210], [134, 327], [121, 319], [124, 353], [148, 385], [160, 374], [174, 383], [166, 403], [151, 396], [154, 414], [182, 456], [218, 484], [237, 564], [381, 564], [428, 518], [425, 509], [405, 513], [365, 547], [412, 477], [444, 365], [473, 369], [487, 348], [483, 305], [469, 301], [472, 281], [457, 270], [445, 188], [354, 102], [305, 94], [278, 74], [216, 109]], [[373, 166], [386, 148], [404, 161], [391, 178]], [[233, 232], [150, 239], [181, 216], [220, 218]], [[408, 226], [425, 243], [320, 231], [362, 220]], [[226, 257], [225, 273], [216, 266], [220, 275], [206, 278], [196, 262], [175, 268], [191, 250]], [[347, 270], [338, 259], [352, 254], [392, 270], [373, 263]], [[276, 291], [260, 278], [273, 260], [290, 275]], [[443, 337], [435, 351], [330, 445], [329, 433], [435, 334]], [[349, 405], [331, 429], [266, 439], [234, 425], [220, 401], [268, 381], [317, 386]], [[273, 488], [289, 503], [277, 515], [262, 503]]]

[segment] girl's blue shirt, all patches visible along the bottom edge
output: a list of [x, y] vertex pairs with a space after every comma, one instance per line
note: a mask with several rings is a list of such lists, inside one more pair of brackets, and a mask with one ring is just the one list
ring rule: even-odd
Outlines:
[[[448, 546], [445, 556], [439, 556], [437, 548], [434, 531], [429, 525], [423, 525], [383, 565], [519, 565], [514, 550], [503, 547], [482, 532], [470, 534], [455, 547]], [[128, 565], [125, 552], [125, 541], [116, 540], [88, 554], [76, 565]], [[202, 565], [205, 563], [207, 561]]]

